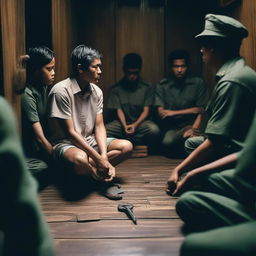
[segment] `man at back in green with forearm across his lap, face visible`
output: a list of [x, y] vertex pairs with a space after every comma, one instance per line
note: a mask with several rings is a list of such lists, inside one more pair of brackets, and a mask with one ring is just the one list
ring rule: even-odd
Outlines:
[[163, 132], [162, 147], [172, 157], [184, 156], [186, 138], [198, 135], [207, 91], [199, 77], [188, 74], [190, 57], [176, 49], [168, 56], [170, 75], [156, 86], [155, 103]]

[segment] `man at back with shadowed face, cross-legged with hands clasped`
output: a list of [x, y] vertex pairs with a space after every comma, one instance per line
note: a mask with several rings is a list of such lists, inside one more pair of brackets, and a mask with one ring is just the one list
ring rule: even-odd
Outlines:
[[115, 111], [115, 120], [106, 125], [109, 137], [125, 138], [133, 144], [146, 144], [154, 153], [160, 130], [149, 120], [153, 105], [153, 87], [140, 77], [142, 59], [129, 53], [123, 59], [124, 77], [113, 85], [108, 109]]

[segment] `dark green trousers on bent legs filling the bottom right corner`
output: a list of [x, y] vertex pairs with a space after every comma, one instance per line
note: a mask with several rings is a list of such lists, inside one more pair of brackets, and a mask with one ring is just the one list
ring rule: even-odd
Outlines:
[[256, 255], [256, 190], [241, 182], [234, 170], [210, 175], [206, 192], [191, 191], [176, 210], [192, 233], [181, 255]]

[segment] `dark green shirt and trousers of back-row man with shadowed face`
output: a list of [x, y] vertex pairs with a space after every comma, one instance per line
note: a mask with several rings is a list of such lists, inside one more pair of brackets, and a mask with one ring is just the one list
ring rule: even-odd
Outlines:
[[[153, 86], [141, 79], [137, 84], [131, 85], [123, 78], [111, 89], [108, 109], [115, 111], [122, 109], [126, 123], [132, 124], [139, 118], [145, 106], [151, 107], [153, 105], [153, 100]], [[131, 136], [125, 134], [120, 121], [117, 120], [117, 117], [115, 119], [106, 125], [108, 137], [129, 139], [135, 144], [147, 144], [150, 148], [156, 145], [160, 131], [158, 126], [149, 118], [142, 122]]]

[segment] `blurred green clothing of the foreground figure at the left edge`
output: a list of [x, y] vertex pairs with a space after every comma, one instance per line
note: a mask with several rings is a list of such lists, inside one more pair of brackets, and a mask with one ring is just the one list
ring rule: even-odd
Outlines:
[[54, 255], [38, 203], [36, 184], [26, 169], [14, 115], [0, 98], [0, 228], [4, 255]]

